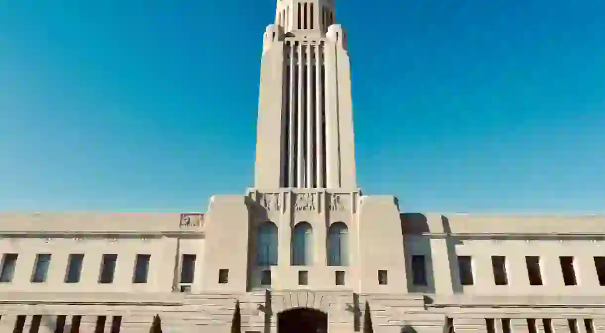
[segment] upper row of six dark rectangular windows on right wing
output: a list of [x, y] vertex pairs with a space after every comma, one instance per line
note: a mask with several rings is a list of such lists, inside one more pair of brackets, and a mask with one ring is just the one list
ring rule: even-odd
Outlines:
[[[605, 286], [605, 257], [594, 257], [594, 268], [598, 277], [599, 285]], [[471, 256], [458, 256], [458, 271], [460, 284], [463, 286], [474, 285], [473, 259]], [[526, 256], [525, 266], [528, 273], [529, 285], [543, 285], [542, 272], [540, 268], [540, 257]], [[492, 270], [494, 273], [494, 284], [497, 286], [508, 285], [507, 260], [505, 256], [491, 257]], [[575, 271], [574, 257], [559, 257], [563, 283], [566, 286], [578, 285]], [[416, 286], [427, 286], [427, 259], [425, 256], [411, 257], [412, 283]]]

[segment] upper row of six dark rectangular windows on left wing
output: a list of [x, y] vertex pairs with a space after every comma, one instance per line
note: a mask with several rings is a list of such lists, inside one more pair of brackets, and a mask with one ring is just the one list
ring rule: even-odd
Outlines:
[[[0, 283], [11, 283], [15, 277], [19, 254], [5, 253], [2, 257], [0, 271]], [[65, 283], [79, 283], [82, 275], [82, 267], [85, 260], [84, 254], [70, 254], [65, 270]], [[103, 254], [99, 267], [99, 283], [113, 283], [116, 274], [117, 254]], [[180, 283], [193, 283], [195, 275], [195, 254], [183, 254], [181, 261]], [[52, 254], [36, 254], [33, 269], [31, 271], [31, 283], [44, 283], [48, 279], [48, 271], [52, 261]], [[151, 255], [137, 254], [132, 271], [132, 283], [147, 283], [149, 275], [149, 262]]]

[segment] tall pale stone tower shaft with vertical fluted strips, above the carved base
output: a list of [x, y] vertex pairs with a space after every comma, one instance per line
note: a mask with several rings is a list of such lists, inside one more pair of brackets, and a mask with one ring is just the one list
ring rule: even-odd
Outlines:
[[347, 36], [333, 0], [278, 0], [263, 37], [255, 188], [355, 191]]

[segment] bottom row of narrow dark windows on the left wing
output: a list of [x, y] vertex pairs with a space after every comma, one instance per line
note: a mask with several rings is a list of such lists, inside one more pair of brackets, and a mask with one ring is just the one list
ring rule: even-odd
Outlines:
[[[0, 316], [0, 324], [4, 319], [3, 317], [5, 316]], [[13, 326], [13, 333], [38, 333], [48, 331], [48, 329], [41, 329], [40, 326], [46, 326], [54, 331], [54, 333], [79, 333], [82, 315], [73, 315], [69, 317], [68, 320], [67, 315], [17, 315], [15, 325]], [[97, 320], [94, 323], [94, 333], [106, 332], [106, 326], [110, 327], [110, 333], [120, 333], [120, 328], [122, 328], [121, 315], [97, 315], [96, 317]], [[45, 322], [45, 319], [48, 319], [48, 322]], [[111, 323], [108, 323], [108, 320], [111, 320]]]

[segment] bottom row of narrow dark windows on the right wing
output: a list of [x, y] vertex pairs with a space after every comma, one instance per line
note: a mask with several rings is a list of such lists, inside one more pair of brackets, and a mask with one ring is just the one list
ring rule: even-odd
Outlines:
[[[566, 331], [569, 333], [595, 333], [595, 326], [592, 319], [568, 318], [564, 320], [566, 321], [566, 326], [569, 329], [569, 331]], [[519, 319], [518, 321], [525, 321], [524, 324], [527, 326], [527, 329], [519, 328], [523, 332], [555, 332], [555, 326], [550, 318], [523, 318]], [[520, 325], [523, 324], [515, 323], [515, 326]], [[499, 327], [497, 328], [497, 326]], [[513, 333], [516, 331], [512, 328], [511, 318], [485, 318], [485, 328], [487, 333]], [[455, 331], [454, 320], [452, 318], [448, 318], [448, 333], [454, 333]]]

